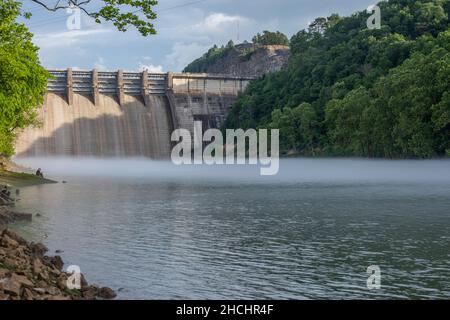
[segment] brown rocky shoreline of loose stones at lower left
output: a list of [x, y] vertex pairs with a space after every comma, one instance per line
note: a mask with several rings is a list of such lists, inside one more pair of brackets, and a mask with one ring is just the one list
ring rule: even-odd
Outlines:
[[0, 300], [99, 300], [114, 299], [110, 288], [89, 285], [80, 275], [80, 289], [69, 289], [71, 274], [63, 271], [60, 256], [47, 256], [48, 249], [30, 243], [7, 229], [9, 223], [30, 221], [29, 214], [0, 206]]

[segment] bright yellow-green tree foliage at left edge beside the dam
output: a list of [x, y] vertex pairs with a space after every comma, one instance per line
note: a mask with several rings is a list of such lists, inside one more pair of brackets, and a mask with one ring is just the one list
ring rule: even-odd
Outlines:
[[32, 34], [16, 22], [20, 3], [0, 2], [0, 155], [11, 156], [18, 129], [36, 124], [49, 77], [40, 66]]

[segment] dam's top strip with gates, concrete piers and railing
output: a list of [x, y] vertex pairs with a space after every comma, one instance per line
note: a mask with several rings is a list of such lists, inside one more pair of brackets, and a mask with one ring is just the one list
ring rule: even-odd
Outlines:
[[48, 82], [48, 92], [63, 94], [69, 105], [73, 95], [92, 95], [94, 103], [99, 95], [117, 95], [122, 104], [125, 95], [142, 96], [172, 93], [188, 94], [228, 94], [237, 95], [256, 77], [233, 77], [216, 74], [192, 73], [149, 73], [110, 71], [49, 70], [52, 79]]

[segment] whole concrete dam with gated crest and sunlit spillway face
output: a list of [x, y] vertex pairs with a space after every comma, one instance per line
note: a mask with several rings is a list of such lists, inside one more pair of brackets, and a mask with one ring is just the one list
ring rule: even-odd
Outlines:
[[173, 130], [218, 128], [250, 77], [52, 70], [41, 126], [20, 133], [18, 157], [170, 157]]

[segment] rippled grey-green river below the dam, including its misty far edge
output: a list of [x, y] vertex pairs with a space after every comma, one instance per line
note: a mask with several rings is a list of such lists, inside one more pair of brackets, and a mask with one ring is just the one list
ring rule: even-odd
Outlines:
[[42, 216], [14, 227], [120, 299], [450, 297], [450, 161], [17, 161], [67, 183], [23, 189]]

